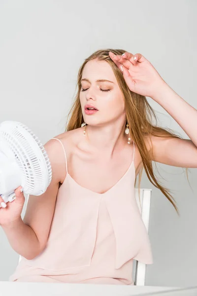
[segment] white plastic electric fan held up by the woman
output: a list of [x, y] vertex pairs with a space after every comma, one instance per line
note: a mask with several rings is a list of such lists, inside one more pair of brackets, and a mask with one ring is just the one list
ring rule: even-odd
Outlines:
[[13, 201], [14, 190], [41, 195], [52, 179], [48, 155], [33, 132], [21, 122], [0, 124], [0, 195], [4, 202]]

